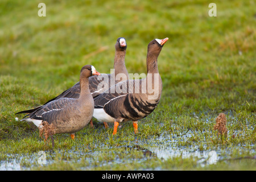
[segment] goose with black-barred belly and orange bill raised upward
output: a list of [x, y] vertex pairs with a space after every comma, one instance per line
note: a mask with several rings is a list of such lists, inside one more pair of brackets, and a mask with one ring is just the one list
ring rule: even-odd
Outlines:
[[[115, 86], [115, 92], [104, 92], [94, 97], [93, 117], [98, 121], [114, 122], [113, 135], [120, 122], [133, 121], [138, 133], [138, 120], [152, 113], [160, 101], [162, 80], [158, 72], [158, 56], [168, 38], [154, 39], [147, 47], [147, 77], [126, 80]], [[154, 88], [154, 93], [152, 92]]]

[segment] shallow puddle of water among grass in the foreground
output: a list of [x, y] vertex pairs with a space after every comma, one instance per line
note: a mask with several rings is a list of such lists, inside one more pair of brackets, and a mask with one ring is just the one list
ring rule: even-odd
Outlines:
[[[178, 136], [170, 134], [160, 134], [158, 137], [152, 137], [148, 139], [139, 139], [135, 137], [133, 142], [120, 143], [119, 148], [124, 148], [127, 154], [136, 150], [142, 152], [143, 158], [139, 159], [122, 159], [114, 158], [113, 160], [106, 160], [105, 163], [100, 161], [97, 163], [98, 166], [106, 166], [111, 163], [130, 163], [134, 160], [138, 162], [143, 162], [149, 158], [158, 158], [160, 160], [168, 160], [172, 158], [192, 158], [197, 161], [200, 166], [217, 164], [219, 160], [227, 158], [232, 151], [227, 151], [223, 148], [206, 149], [207, 147], [199, 148], [196, 144], [192, 145], [179, 145], [179, 141], [186, 141], [190, 137], [193, 137], [193, 133], [187, 132], [185, 134], [180, 134]], [[117, 147], [117, 148], [118, 148]], [[85, 148], [84, 146], [76, 147], [73, 150], [67, 151], [39, 151], [30, 155], [11, 155], [8, 159], [2, 160], [0, 162], [1, 171], [20, 171], [20, 170], [30, 170], [33, 167], [40, 165], [47, 166], [52, 163], [57, 163], [58, 160], [64, 160], [67, 163], [82, 163], [86, 160], [87, 163], [94, 165], [102, 152], [107, 152], [106, 154], [112, 155], [115, 153], [114, 148], [108, 148], [104, 144], [94, 146], [94, 150], [90, 148]], [[253, 147], [252, 147], [253, 148]], [[232, 148], [229, 148], [231, 150]], [[234, 147], [236, 150], [243, 150], [242, 146]], [[57, 153], [56, 153], [57, 152]], [[255, 148], [248, 151], [250, 155], [255, 155]], [[60, 158], [60, 159], [59, 159]], [[56, 161], [57, 160], [57, 161]], [[129, 161], [130, 160], [130, 161]], [[80, 167], [79, 169], [90, 169], [88, 166]]]

